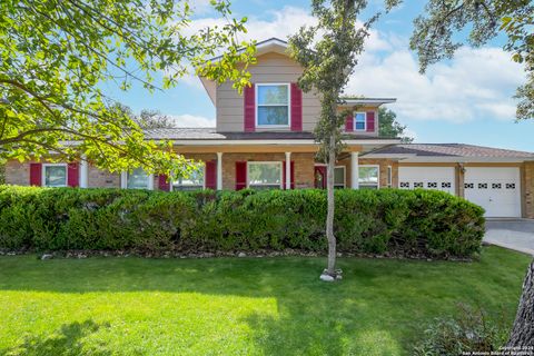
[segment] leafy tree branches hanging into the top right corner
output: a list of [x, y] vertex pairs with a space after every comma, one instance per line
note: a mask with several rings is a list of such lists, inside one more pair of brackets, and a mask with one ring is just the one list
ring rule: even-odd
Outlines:
[[[534, 3], [531, 0], [429, 0], [424, 14], [414, 21], [411, 48], [424, 72], [429, 65], [452, 58], [462, 46], [458, 38], [481, 47], [500, 33], [507, 37], [504, 49], [524, 63], [527, 81], [517, 89], [516, 118], [534, 118]], [[467, 29], [467, 30], [466, 30]]]

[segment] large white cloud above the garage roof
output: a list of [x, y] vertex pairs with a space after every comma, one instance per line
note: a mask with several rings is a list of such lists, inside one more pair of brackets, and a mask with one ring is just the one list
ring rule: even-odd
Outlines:
[[347, 92], [396, 97], [392, 109], [400, 120], [512, 120], [512, 96], [522, 80], [521, 66], [498, 48], [463, 48], [453, 60], [432, 66], [426, 75], [418, 73], [413, 53], [397, 48], [385, 57], [367, 52]]

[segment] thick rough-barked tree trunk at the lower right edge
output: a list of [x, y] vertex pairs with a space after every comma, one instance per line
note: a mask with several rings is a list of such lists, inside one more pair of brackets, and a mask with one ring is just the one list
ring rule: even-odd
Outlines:
[[[534, 260], [528, 266], [528, 271], [523, 283], [520, 307], [506, 346], [534, 346]], [[526, 348], [523, 350], [526, 350]]]

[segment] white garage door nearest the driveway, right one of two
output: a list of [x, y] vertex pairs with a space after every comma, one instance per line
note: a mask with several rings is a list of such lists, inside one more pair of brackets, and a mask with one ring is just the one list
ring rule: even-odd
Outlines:
[[467, 167], [465, 199], [486, 209], [487, 217], [521, 217], [518, 168]]

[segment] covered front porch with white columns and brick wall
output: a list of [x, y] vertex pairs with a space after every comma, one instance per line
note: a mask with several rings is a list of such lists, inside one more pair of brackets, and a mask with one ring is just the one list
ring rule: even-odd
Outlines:
[[[205, 188], [326, 188], [326, 167], [316, 160], [315, 151], [184, 152], [184, 156], [205, 162]], [[336, 188], [377, 189], [397, 187], [397, 177], [396, 161], [360, 158], [359, 151], [347, 151], [336, 162], [334, 182]]]

